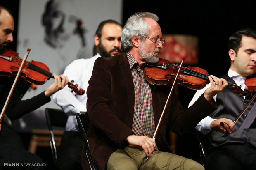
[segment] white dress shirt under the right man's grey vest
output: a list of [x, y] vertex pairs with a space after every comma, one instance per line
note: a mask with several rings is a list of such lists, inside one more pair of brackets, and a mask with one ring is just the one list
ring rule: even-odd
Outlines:
[[[238, 86], [241, 85], [241, 86], [242, 86], [242, 87], [241, 87], [242, 90], [245, 89], [245, 88], [247, 88], [247, 86], [244, 84], [246, 78], [240, 76], [237, 72], [232, 71], [230, 68], [229, 68], [229, 70], [228, 70], [228, 76], [229, 76], [230, 78], [232, 78]], [[196, 92], [196, 94], [194, 95], [193, 99], [190, 101], [188, 107], [190, 107], [192, 104], [194, 104], [194, 102], [197, 101], [197, 99], [199, 98], [199, 96], [201, 96], [201, 94], [203, 94], [204, 91], [205, 91], [207, 88], [209, 88], [209, 87], [211, 87], [211, 83], [209, 83], [208, 85], [206, 85], [203, 89], [197, 90], [197, 92]], [[244, 97], [244, 96], [243, 96], [243, 97]], [[244, 97], [244, 98], [245, 98], [245, 97]], [[213, 99], [214, 99], [214, 101], [216, 101], [217, 95], [213, 96]], [[214, 121], [214, 120], [216, 120], [216, 119], [213, 119], [213, 118], [211, 118], [210, 116], [207, 116], [207, 117], [205, 117], [204, 119], [202, 119], [202, 120], [199, 122], [199, 124], [197, 124], [196, 129], [197, 129], [198, 131], [200, 131], [201, 133], [203, 133], [203, 134], [207, 134], [207, 133], [209, 133], [209, 132], [211, 131], [210, 124], [211, 124], [211, 122]]]

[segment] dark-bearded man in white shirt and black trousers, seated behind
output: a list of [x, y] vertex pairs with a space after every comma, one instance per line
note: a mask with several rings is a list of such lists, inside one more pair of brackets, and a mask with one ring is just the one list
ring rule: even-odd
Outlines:
[[[121, 53], [122, 31], [120, 23], [114, 20], [102, 21], [94, 37], [97, 54], [89, 59], [74, 60], [66, 67], [63, 75], [74, 80], [78, 87], [86, 92], [95, 60], [98, 57], [110, 57]], [[82, 96], [74, 96], [69, 88], [64, 88], [56, 93], [53, 99], [69, 115], [57, 152], [57, 166], [61, 170], [82, 169], [80, 157], [84, 139], [78, 132], [75, 115], [80, 111], [86, 111], [87, 95], [85, 93]]]

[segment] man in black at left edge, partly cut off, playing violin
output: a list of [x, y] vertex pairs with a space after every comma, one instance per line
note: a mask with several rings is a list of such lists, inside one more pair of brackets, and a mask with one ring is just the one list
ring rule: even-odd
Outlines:
[[[4, 55], [6, 45], [13, 41], [12, 32], [14, 30], [14, 20], [11, 11], [0, 6], [0, 49]], [[50, 101], [50, 96], [62, 89], [68, 82], [66, 76], [53, 74], [55, 83], [50, 85], [44, 92], [31, 99], [21, 100], [31, 83], [19, 78], [14, 89], [9, 105], [5, 111], [2, 121], [0, 136], [0, 169], [4, 169], [4, 163], [43, 163], [36, 155], [24, 150], [24, 145], [19, 135], [14, 131], [9, 119], [19, 119], [45, 103]], [[0, 76], [0, 109], [5, 104], [9, 91], [12, 87], [14, 77]], [[28, 167], [29, 169], [45, 169], [45, 167]], [[24, 167], [26, 169], [26, 167]]]

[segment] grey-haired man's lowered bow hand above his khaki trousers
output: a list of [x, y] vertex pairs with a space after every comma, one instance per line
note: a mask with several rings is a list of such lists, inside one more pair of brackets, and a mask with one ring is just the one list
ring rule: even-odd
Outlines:
[[126, 140], [130, 145], [142, 147], [147, 156], [152, 156], [152, 153], [156, 147], [156, 141], [147, 136], [130, 135], [126, 138]]

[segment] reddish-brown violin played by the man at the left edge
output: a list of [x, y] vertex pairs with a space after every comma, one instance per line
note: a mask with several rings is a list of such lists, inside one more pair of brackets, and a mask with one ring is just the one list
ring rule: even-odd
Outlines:
[[[28, 50], [30, 51], [30, 49]], [[0, 75], [9, 77], [16, 75], [21, 62], [22, 58], [19, 57], [19, 53], [7, 49], [3, 54], [0, 54]], [[20, 76], [25, 81], [36, 85], [43, 85], [50, 78], [54, 78], [46, 64], [33, 60], [25, 62]], [[77, 95], [83, 95], [85, 91], [83, 89], [78, 90], [78, 85], [74, 85], [73, 82], [72, 80], [68, 83], [71, 92], [75, 92]]]

